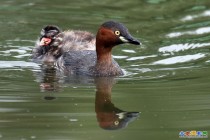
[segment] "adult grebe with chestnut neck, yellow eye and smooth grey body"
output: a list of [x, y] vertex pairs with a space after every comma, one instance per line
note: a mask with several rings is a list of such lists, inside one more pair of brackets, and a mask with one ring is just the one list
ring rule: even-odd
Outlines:
[[140, 45], [121, 23], [108, 21], [101, 25], [96, 35], [96, 51], [68, 51], [57, 61], [58, 68], [89, 76], [119, 76], [123, 71], [112, 58], [112, 48], [123, 43]]

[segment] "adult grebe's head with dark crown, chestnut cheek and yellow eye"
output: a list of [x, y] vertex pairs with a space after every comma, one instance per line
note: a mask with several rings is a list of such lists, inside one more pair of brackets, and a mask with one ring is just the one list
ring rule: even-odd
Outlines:
[[108, 21], [101, 25], [96, 36], [96, 43], [104, 47], [113, 47], [123, 43], [140, 45], [140, 42], [133, 38], [128, 29], [115, 21]]

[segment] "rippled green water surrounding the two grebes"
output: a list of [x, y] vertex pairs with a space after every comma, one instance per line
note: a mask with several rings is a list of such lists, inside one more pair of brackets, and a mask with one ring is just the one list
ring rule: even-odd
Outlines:
[[[0, 139], [176, 140], [180, 131], [210, 133], [209, 0], [1, 0], [0, 19]], [[114, 49], [125, 76], [64, 77], [29, 61], [44, 25], [96, 33], [110, 19], [143, 44]]]

